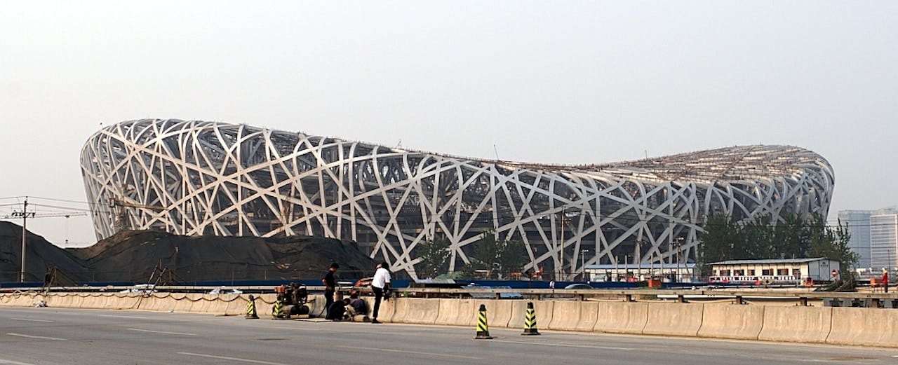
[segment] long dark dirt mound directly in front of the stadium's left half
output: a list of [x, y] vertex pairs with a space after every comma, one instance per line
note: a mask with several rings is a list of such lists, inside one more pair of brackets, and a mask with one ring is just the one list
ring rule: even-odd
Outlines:
[[305, 280], [320, 278], [334, 262], [341, 276], [352, 278], [373, 271], [375, 265], [353, 242], [306, 236], [190, 237], [128, 230], [72, 250], [98, 282], [146, 282], [157, 267], [181, 283]]

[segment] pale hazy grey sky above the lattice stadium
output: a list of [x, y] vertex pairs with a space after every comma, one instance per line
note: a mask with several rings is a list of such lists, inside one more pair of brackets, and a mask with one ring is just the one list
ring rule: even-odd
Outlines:
[[85, 202], [87, 138], [160, 117], [568, 164], [797, 145], [832, 163], [833, 216], [898, 204], [896, 116], [894, 1], [0, 6], [0, 215]]

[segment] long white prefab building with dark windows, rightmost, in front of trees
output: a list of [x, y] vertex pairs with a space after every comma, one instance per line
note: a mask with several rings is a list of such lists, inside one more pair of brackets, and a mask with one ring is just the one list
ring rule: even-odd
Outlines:
[[710, 265], [713, 274], [709, 282], [832, 281], [839, 273], [839, 261], [826, 257], [732, 260]]

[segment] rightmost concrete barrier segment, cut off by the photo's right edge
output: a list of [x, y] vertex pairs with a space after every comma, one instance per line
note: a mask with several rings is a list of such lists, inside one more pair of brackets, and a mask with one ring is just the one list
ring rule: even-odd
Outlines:
[[833, 308], [826, 343], [898, 347], [898, 310]]

